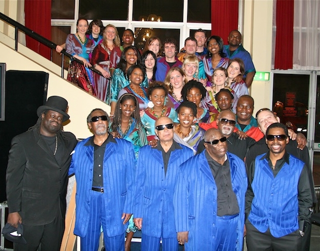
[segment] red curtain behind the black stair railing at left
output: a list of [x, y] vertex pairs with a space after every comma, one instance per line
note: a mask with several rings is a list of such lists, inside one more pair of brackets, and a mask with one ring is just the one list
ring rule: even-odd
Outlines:
[[[25, 26], [51, 40], [51, 0], [24, 0]], [[26, 46], [50, 59], [50, 48], [26, 36]]]

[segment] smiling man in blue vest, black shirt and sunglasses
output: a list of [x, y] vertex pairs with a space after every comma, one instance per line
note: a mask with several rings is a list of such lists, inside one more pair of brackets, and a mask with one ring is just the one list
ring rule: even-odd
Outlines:
[[248, 171], [245, 195], [248, 251], [305, 250], [312, 195], [306, 165], [286, 152], [288, 130], [272, 123], [265, 132], [269, 150], [258, 155]]

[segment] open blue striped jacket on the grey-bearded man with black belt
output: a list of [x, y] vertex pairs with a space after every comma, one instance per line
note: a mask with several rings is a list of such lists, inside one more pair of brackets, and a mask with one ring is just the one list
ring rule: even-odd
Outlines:
[[[69, 169], [69, 174], [74, 173], [76, 179], [74, 234], [80, 237], [85, 236], [87, 232], [93, 178], [94, 147], [85, 145], [88, 140], [89, 137], [75, 146]], [[106, 234], [109, 237], [125, 231], [127, 224], [122, 224], [121, 215], [123, 212], [133, 212], [134, 168], [135, 157], [130, 142], [115, 138], [106, 144], [103, 158], [102, 209], [108, 225]]]

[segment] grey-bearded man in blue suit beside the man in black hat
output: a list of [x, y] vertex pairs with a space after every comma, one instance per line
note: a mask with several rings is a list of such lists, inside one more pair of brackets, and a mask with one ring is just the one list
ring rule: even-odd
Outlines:
[[106, 250], [124, 250], [124, 231], [133, 211], [135, 156], [132, 144], [108, 133], [107, 113], [87, 116], [93, 136], [74, 148], [69, 174], [75, 174], [74, 234], [82, 251], [96, 251], [101, 226]]

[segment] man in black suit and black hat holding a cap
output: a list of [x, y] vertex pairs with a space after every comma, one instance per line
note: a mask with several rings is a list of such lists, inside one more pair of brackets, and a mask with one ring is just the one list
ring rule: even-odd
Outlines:
[[14, 250], [60, 249], [64, 231], [65, 195], [75, 136], [61, 131], [67, 101], [50, 96], [37, 109], [35, 125], [11, 141], [6, 169], [7, 222], [23, 225], [26, 244]]

